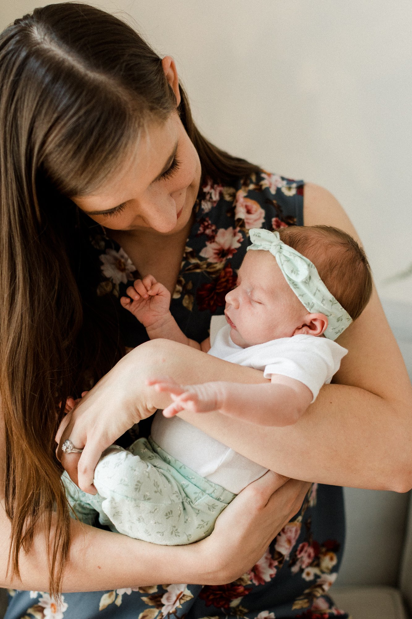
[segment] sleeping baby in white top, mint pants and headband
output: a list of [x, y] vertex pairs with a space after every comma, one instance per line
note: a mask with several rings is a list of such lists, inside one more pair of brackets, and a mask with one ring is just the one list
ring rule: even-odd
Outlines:
[[153, 379], [173, 403], [156, 413], [148, 439], [104, 452], [95, 469], [98, 494], [84, 493], [63, 475], [82, 521], [91, 523], [98, 514], [112, 530], [153, 543], [206, 537], [234, 496], [267, 469], [174, 415], [219, 410], [260, 425], [290, 425], [337, 372], [347, 350], [334, 340], [371, 295], [363, 250], [351, 236], [326, 226], [255, 229], [249, 236], [237, 287], [226, 295], [227, 324], [213, 337], [215, 322], [223, 318], [213, 317], [211, 342], [199, 344], [182, 333], [170, 313], [170, 293], [152, 275], [136, 280], [121, 303], [150, 339], [173, 339], [264, 370], [270, 382], [181, 386]]

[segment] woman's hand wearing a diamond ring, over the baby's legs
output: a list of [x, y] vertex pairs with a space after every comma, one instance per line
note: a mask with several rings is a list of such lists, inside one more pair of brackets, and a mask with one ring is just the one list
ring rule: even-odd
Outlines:
[[[75, 405], [61, 422], [56, 455], [79, 488], [96, 493], [93, 477], [102, 452], [124, 432], [157, 410], [152, 404], [153, 390], [145, 384], [145, 369], [153, 368], [157, 354], [150, 353], [147, 342], [123, 357], [93, 389]], [[152, 370], [153, 373], [153, 370]], [[66, 404], [67, 408], [67, 404]], [[62, 452], [62, 443], [70, 439], [82, 454]]]

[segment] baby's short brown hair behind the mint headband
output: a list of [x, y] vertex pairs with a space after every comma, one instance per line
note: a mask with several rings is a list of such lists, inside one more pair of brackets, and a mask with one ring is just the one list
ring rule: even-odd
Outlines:
[[359, 243], [332, 226], [290, 226], [277, 232], [283, 243], [313, 262], [333, 297], [353, 320], [358, 318], [372, 294], [371, 267]]

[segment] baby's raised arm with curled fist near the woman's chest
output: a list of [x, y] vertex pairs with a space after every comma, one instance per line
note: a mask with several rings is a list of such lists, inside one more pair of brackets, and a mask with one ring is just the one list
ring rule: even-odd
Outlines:
[[181, 331], [170, 313], [170, 292], [153, 275], [135, 280], [126, 292], [129, 297], [121, 297], [121, 305], [146, 327], [151, 340], [164, 337], [207, 352], [207, 340], [199, 344]]

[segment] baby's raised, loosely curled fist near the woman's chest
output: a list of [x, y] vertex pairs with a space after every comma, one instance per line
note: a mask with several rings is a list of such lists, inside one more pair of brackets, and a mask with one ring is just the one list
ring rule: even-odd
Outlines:
[[152, 327], [170, 312], [170, 292], [153, 275], [135, 280], [126, 293], [129, 297], [121, 297], [121, 305], [146, 328]]

